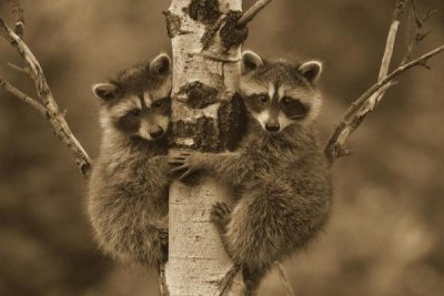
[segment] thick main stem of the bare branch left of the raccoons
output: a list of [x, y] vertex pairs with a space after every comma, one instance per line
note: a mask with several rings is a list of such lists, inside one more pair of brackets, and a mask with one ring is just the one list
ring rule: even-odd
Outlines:
[[[2, 19], [0, 19], [0, 35], [3, 37], [8, 42], [10, 42], [11, 45], [18, 50], [22, 59], [26, 61], [26, 69], [29, 69], [29, 73], [34, 81], [38, 98], [42, 102], [41, 105], [47, 110], [49, 114], [47, 119], [52, 124], [56, 135], [74, 154], [75, 163], [80, 169], [82, 175], [84, 177], [88, 177], [91, 171], [91, 160], [88, 156], [87, 152], [83, 150], [82, 145], [72, 134], [67, 121], [63, 118], [63, 114], [60, 112], [59, 106], [52, 96], [51, 90], [48, 86], [47, 80], [43, 75], [43, 71], [38, 60], [32, 54], [28, 45], [21, 40], [21, 38], [16, 34], [16, 32], [12, 31], [3, 22]], [[8, 86], [8, 84], [4, 83], [2, 84], [2, 86], [3, 85]]]

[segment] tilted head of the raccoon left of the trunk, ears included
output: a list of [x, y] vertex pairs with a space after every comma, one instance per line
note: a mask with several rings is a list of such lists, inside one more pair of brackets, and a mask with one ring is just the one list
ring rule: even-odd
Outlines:
[[118, 80], [93, 86], [101, 99], [101, 123], [131, 137], [161, 139], [171, 118], [170, 59], [159, 55], [149, 65], [121, 73]]

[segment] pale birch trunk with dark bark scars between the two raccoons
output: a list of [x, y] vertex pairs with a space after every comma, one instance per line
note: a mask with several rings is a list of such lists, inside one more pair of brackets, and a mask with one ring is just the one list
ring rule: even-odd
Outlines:
[[[240, 47], [246, 29], [235, 29], [241, 0], [173, 0], [165, 12], [173, 51], [172, 150], [221, 152], [239, 140]], [[210, 222], [212, 204], [230, 203], [229, 188], [208, 176], [170, 188], [170, 245], [165, 266], [170, 295], [220, 295], [233, 266]], [[229, 295], [243, 295], [236, 275]]]

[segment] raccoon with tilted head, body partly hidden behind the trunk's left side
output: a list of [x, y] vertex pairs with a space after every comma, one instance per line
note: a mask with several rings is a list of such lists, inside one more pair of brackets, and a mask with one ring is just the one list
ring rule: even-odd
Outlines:
[[103, 134], [88, 211], [100, 247], [129, 264], [168, 258], [170, 64], [160, 54], [93, 86]]

